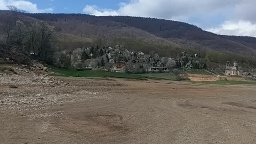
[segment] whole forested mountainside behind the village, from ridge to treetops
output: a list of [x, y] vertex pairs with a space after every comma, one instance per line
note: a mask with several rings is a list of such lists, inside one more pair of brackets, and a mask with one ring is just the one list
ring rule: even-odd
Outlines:
[[246, 68], [256, 67], [255, 37], [217, 35], [184, 22], [140, 17], [0, 11], [2, 41], [9, 36], [18, 20], [26, 26], [37, 20], [54, 26], [59, 35], [60, 48], [67, 51], [90, 45], [103, 47], [122, 44], [133, 51], [154, 51], [162, 56], [175, 57], [187, 51], [200, 53], [217, 65], [225, 65], [229, 59], [239, 61]]

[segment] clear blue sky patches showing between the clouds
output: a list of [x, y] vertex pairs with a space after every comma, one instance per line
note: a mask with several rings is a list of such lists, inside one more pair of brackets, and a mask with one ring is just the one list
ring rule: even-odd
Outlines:
[[[38, 9], [51, 7], [53, 13], [83, 13], [86, 5], [97, 7], [100, 10], [118, 10], [122, 3], [129, 3], [130, 0], [30, 0], [30, 2], [37, 4]], [[200, 18], [190, 17], [185, 22], [205, 28], [206, 25], [219, 25], [223, 19], [222, 17], [211, 17], [203, 21]]]

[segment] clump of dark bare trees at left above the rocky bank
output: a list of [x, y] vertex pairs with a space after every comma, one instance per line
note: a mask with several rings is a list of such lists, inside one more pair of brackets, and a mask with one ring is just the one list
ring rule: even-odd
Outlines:
[[31, 54], [50, 65], [59, 63], [58, 34], [47, 22], [35, 21], [26, 26], [18, 20], [14, 25], [8, 22], [3, 27], [5, 35], [2, 37], [2, 43], [17, 47], [18, 52]]

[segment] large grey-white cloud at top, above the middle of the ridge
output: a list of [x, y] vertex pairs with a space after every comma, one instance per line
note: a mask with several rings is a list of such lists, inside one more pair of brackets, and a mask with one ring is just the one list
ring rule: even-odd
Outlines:
[[84, 13], [92, 15], [131, 15], [163, 19], [186, 20], [189, 17], [224, 14], [230, 4], [241, 0], [131, 0], [122, 3], [118, 10], [100, 10], [96, 6], [86, 5]]

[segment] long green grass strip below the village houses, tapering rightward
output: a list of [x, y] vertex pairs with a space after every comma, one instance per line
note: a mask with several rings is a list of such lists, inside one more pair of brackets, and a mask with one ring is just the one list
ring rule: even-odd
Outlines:
[[[60, 74], [60, 76], [66, 77], [115, 77], [115, 78], [127, 78], [127, 79], [141, 79], [146, 80], [149, 79], [161, 79], [157, 77], [149, 77], [143, 75], [135, 75], [135, 74], [125, 74], [125, 73], [112, 73], [109, 71], [96, 71], [96, 70], [85, 70], [85, 71], [77, 71], [76, 69], [60, 69], [60, 68], [50, 68], [54, 73]], [[79, 76], [78, 76], [79, 74]]]

